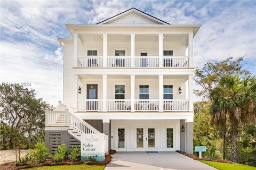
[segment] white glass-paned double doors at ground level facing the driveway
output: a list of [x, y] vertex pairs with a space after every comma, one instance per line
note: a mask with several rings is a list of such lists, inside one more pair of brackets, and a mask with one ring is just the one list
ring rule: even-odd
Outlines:
[[155, 127], [137, 127], [134, 128], [134, 144], [136, 151], [156, 151], [157, 128]]

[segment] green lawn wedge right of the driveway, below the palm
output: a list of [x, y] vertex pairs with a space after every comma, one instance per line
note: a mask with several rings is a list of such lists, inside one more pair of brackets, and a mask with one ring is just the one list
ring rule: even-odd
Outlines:
[[256, 170], [256, 167], [254, 166], [248, 166], [243, 164], [217, 163], [217, 162], [211, 162], [206, 160], [199, 160], [199, 161], [220, 170], [253, 170], [253, 169]]

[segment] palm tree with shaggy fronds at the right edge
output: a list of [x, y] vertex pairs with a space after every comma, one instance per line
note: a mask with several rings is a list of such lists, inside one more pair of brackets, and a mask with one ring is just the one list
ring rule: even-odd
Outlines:
[[231, 161], [237, 162], [239, 125], [256, 123], [256, 78], [223, 75], [210, 95], [210, 113], [215, 122], [230, 122]]

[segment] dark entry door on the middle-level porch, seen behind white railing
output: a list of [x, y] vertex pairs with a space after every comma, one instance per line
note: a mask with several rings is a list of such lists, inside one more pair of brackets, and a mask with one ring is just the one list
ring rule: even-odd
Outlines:
[[98, 84], [87, 84], [87, 111], [98, 110]]

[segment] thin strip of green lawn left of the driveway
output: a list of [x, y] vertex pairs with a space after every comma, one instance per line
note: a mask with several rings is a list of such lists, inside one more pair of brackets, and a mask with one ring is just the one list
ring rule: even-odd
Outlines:
[[[105, 165], [58, 165], [58, 166], [41, 166], [41, 167], [34, 167], [28, 168], [31, 170], [103, 170]], [[27, 169], [26, 169], [27, 170]]]

